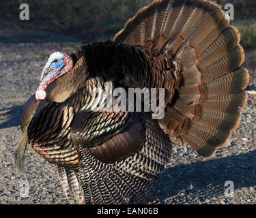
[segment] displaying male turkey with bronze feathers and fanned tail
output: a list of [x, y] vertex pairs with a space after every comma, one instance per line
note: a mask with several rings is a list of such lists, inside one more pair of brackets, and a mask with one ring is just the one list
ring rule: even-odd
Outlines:
[[[212, 157], [237, 129], [249, 79], [239, 42], [213, 1], [157, 0], [113, 41], [53, 53], [22, 112], [16, 165], [29, 144], [57, 165], [70, 203], [147, 202], [171, 159], [171, 138]], [[95, 87], [164, 88], [165, 116], [94, 112]]]

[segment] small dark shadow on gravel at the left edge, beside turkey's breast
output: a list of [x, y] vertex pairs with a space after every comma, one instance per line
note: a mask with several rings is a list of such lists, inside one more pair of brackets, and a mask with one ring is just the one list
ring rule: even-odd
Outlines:
[[12, 106], [10, 108], [0, 109], [0, 129], [14, 127], [20, 125], [20, 114], [23, 110], [23, 105]]

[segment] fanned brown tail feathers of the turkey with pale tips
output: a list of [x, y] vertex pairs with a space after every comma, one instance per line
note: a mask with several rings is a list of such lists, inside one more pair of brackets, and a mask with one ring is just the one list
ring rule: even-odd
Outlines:
[[[180, 63], [182, 81], [158, 123], [203, 157], [227, 144], [246, 105], [248, 71], [240, 33], [221, 6], [206, 0], [156, 0], [113, 39], [148, 46]], [[152, 46], [152, 42], [153, 46]]]

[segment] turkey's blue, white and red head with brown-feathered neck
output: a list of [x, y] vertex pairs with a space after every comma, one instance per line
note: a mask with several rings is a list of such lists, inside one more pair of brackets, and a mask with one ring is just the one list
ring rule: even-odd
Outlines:
[[86, 68], [83, 57], [75, 63], [67, 52], [54, 52], [42, 70], [35, 98], [47, 102], [64, 102], [83, 86], [87, 77]]

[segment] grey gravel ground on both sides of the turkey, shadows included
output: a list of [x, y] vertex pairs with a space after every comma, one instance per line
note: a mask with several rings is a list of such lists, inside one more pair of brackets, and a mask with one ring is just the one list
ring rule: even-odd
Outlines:
[[[21, 135], [20, 111], [35, 93], [48, 55], [71, 51], [79, 44], [58, 33], [22, 31], [0, 22], [0, 204], [68, 204], [55, 166], [28, 148], [26, 173], [20, 176], [14, 168], [14, 151]], [[189, 146], [173, 146], [173, 159], [156, 186], [153, 203], [255, 204], [255, 102], [256, 95], [249, 94], [242, 124], [216, 157], [203, 159]], [[233, 181], [231, 198], [225, 197], [225, 181]], [[23, 193], [26, 183], [29, 192]]]

